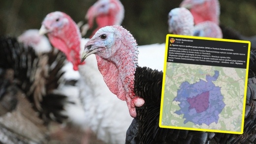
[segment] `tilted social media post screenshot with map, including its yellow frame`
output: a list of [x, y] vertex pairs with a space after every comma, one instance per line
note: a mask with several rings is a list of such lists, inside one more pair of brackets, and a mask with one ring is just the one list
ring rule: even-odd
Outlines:
[[167, 35], [162, 128], [242, 134], [250, 42]]

